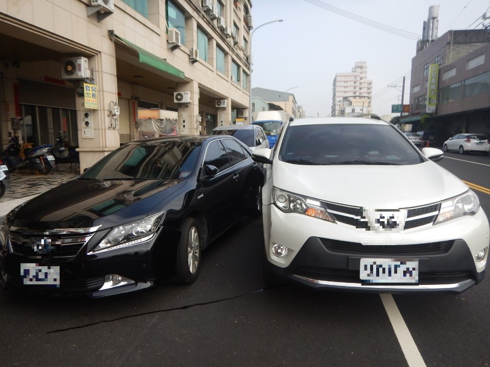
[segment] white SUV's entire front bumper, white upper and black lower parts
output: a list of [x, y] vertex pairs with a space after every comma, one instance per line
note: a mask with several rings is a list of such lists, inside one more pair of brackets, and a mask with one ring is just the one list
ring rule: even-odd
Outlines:
[[[489, 226], [481, 209], [474, 216], [396, 233], [285, 214], [274, 205], [264, 205], [263, 219], [268, 273], [315, 289], [460, 293], [485, 274]], [[287, 247], [288, 254], [274, 256], [275, 243]], [[481, 249], [486, 255], [477, 262], [474, 254]], [[365, 283], [360, 279], [361, 258], [416, 260], [419, 281]]]

